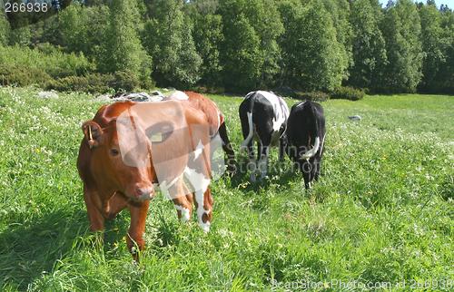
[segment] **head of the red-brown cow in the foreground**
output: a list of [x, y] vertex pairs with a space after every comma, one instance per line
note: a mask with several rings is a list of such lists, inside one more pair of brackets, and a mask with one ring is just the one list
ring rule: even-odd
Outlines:
[[[122, 131], [117, 128], [116, 120], [104, 128], [94, 121], [82, 126], [92, 152], [94, 177], [97, 183], [105, 183], [106, 189], [121, 191], [132, 200], [150, 200], [154, 190], [149, 141], [142, 139], [141, 132], [131, 133], [133, 139], [121, 137]], [[120, 147], [121, 142], [130, 142], [132, 147]]]

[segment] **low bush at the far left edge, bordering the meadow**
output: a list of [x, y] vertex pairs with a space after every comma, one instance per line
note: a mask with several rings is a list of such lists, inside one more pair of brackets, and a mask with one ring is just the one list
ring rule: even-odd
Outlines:
[[52, 81], [52, 77], [43, 70], [24, 66], [12, 67], [0, 63], [0, 84], [27, 86], [36, 84], [45, 86]]

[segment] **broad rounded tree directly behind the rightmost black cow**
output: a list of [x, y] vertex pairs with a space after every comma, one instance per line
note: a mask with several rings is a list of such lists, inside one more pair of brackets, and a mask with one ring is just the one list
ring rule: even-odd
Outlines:
[[281, 37], [284, 80], [304, 90], [330, 91], [341, 85], [346, 64], [331, 16], [320, 2], [280, 6], [285, 34]]

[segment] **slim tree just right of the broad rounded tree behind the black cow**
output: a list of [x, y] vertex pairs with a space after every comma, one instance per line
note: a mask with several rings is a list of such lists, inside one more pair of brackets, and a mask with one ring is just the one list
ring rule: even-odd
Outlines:
[[349, 83], [359, 88], [376, 89], [380, 83], [380, 68], [386, 65], [386, 49], [379, 29], [380, 7], [370, 0], [357, 0], [351, 4], [353, 64]]

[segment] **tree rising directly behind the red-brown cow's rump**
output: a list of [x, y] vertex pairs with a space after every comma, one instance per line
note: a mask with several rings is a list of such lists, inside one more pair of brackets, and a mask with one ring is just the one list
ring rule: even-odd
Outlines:
[[154, 79], [162, 86], [187, 88], [200, 79], [202, 58], [192, 39], [192, 22], [180, 0], [153, 1], [143, 42], [153, 56]]

